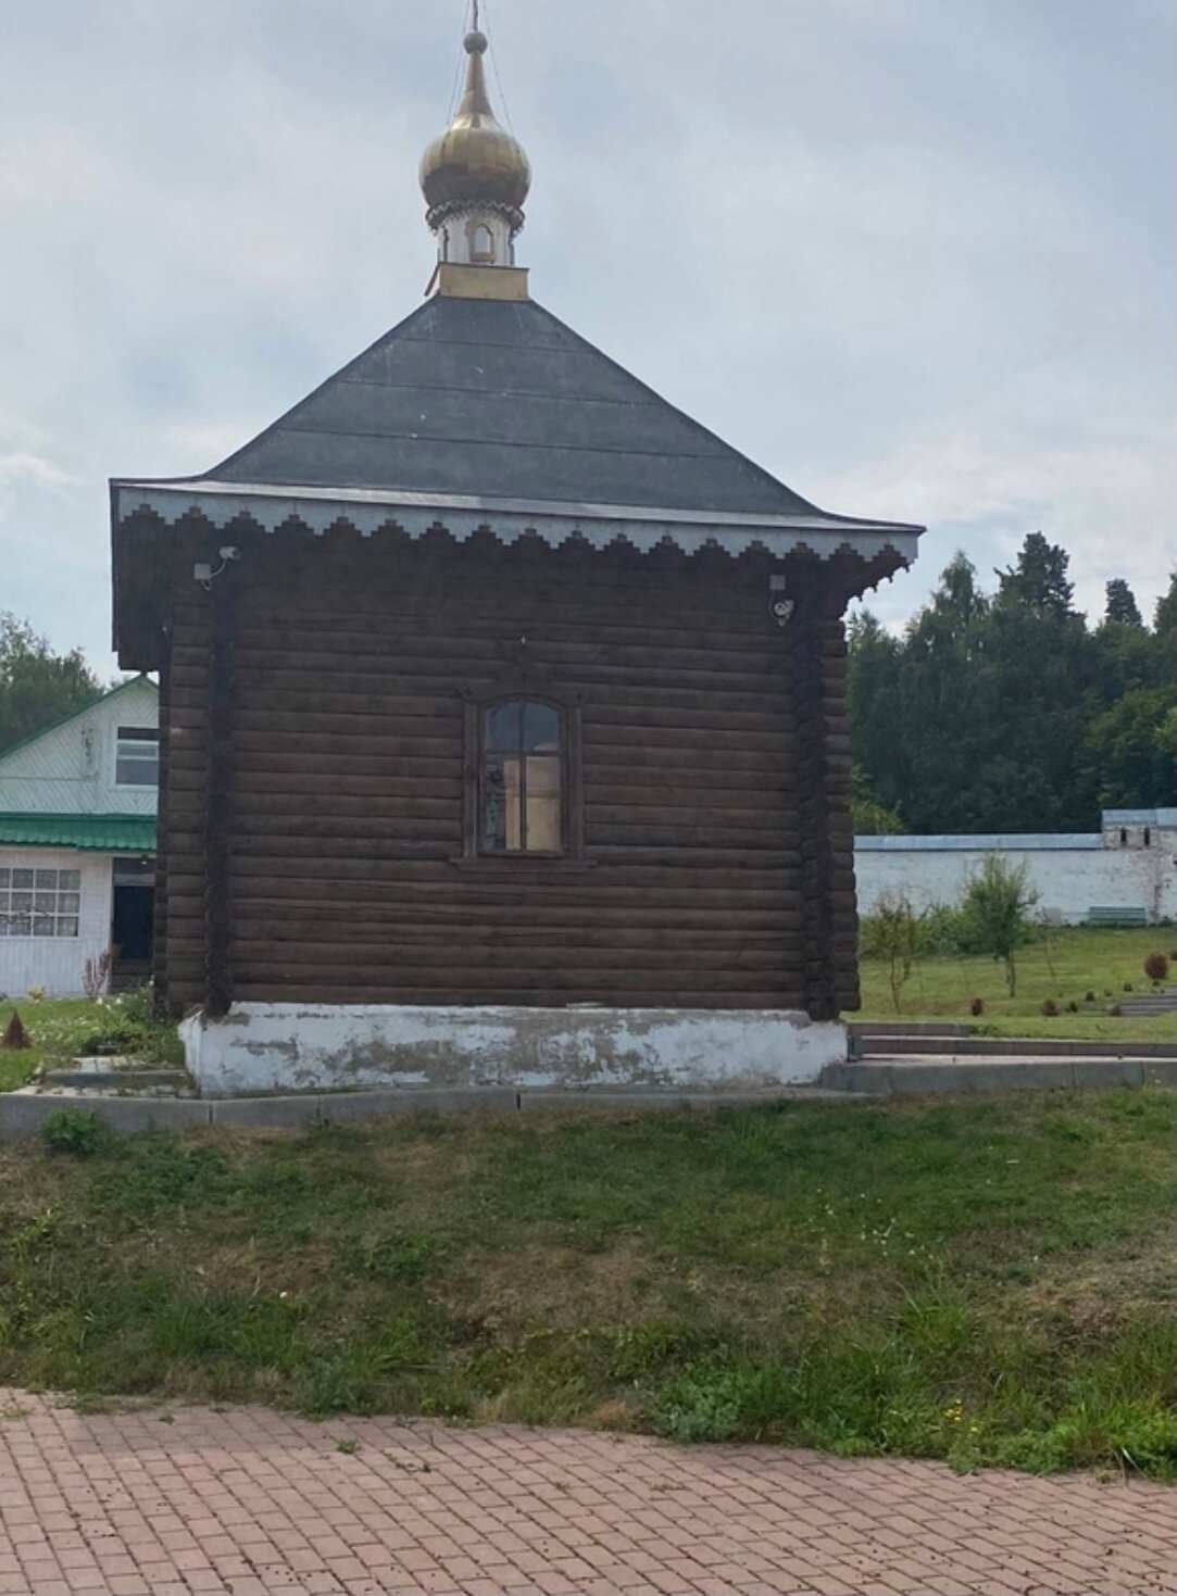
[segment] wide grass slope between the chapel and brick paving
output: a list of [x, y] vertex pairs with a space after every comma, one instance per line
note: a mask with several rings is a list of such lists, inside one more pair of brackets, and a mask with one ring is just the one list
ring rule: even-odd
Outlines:
[[0, 1384], [1172, 1478], [1175, 1124], [1089, 1092], [8, 1146]]

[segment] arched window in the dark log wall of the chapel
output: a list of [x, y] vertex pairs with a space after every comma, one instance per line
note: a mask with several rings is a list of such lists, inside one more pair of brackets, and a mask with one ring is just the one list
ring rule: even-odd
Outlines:
[[540, 699], [501, 699], [481, 720], [479, 852], [562, 854], [564, 713]]

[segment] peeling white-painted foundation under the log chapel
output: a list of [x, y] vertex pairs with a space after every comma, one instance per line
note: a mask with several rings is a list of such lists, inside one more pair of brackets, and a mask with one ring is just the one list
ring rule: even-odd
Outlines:
[[180, 1025], [204, 1096], [374, 1087], [765, 1090], [845, 1063], [846, 1029], [786, 1009], [233, 1004]]

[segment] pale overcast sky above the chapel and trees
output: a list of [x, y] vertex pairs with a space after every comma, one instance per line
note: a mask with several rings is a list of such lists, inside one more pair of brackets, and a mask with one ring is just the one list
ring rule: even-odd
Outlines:
[[[535, 297], [799, 493], [1084, 606], [1177, 560], [1177, 0], [489, 0]], [[5, 0], [0, 608], [110, 670], [110, 476], [417, 303], [463, 0]], [[492, 73], [492, 91], [501, 104]]]

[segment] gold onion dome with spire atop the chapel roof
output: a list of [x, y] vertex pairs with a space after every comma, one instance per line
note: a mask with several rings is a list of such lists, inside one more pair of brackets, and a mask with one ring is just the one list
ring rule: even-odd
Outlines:
[[422, 192], [428, 223], [436, 227], [455, 211], [490, 206], [501, 211], [513, 230], [524, 225], [524, 200], [532, 187], [532, 168], [517, 139], [500, 128], [487, 96], [485, 34], [465, 38], [466, 93], [457, 115], [422, 156]]

